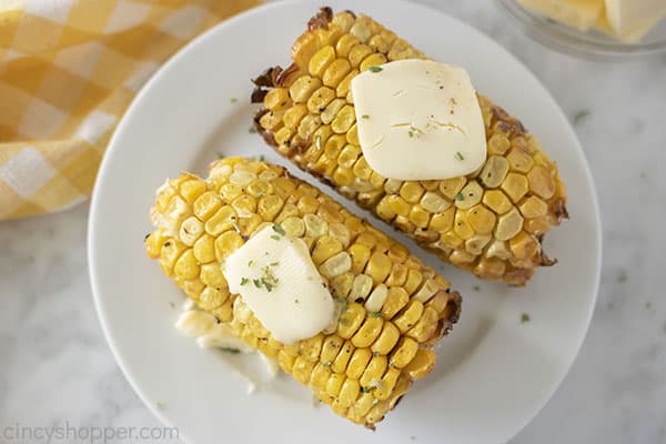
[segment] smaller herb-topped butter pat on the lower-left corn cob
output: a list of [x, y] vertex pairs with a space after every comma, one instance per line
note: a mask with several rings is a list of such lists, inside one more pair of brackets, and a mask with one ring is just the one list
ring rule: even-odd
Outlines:
[[229, 290], [284, 344], [312, 337], [332, 322], [335, 304], [307, 246], [280, 225], [261, 230], [226, 258], [223, 274]]

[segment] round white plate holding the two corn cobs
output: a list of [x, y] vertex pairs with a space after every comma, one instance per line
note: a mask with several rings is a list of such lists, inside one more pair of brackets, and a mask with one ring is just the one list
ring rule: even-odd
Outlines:
[[[205, 173], [218, 151], [276, 160], [248, 131], [254, 111], [248, 103], [249, 79], [268, 65], [287, 63], [291, 43], [319, 3], [273, 3], [226, 21], [171, 59], [113, 137], [89, 233], [90, 275], [109, 344], [147, 406], [191, 443], [405, 443], [412, 436], [418, 443], [504, 442], [553, 394], [591, 320], [601, 225], [583, 151], [544, 87], [474, 29], [398, 0], [329, 3], [370, 13], [431, 57], [462, 64], [480, 91], [522, 117], [541, 138], [568, 186], [572, 220], [546, 241], [559, 263], [539, 270], [526, 289], [508, 289], [442, 265], [400, 238], [461, 290], [463, 315], [442, 341], [433, 374], [414, 385], [376, 433], [327, 407], [313, 408], [309, 392], [287, 379], [275, 391], [245, 395], [224, 360], [175, 332], [178, 313], [168, 302], [181, 295], [144, 254], [148, 210], [165, 178], [183, 170]], [[232, 103], [233, 98], [239, 101]], [[522, 313], [531, 321], [522, 323]]]

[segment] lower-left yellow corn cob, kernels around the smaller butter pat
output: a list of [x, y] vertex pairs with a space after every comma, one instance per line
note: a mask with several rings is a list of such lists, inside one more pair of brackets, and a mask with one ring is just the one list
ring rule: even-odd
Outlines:
[[[183, 174], [160, 189], [151, 218], [148, 255], [200, 309], [369, 427], [433, 369], [432, 347], [458, 317], [461, 297], [446, 280], [280, 167], [235, 158], [215, 162], [206, 180]], [[334, 326], [289, 345], [230, 294], [220, 266], [273, 223], [305, 242], [340, 304]]]

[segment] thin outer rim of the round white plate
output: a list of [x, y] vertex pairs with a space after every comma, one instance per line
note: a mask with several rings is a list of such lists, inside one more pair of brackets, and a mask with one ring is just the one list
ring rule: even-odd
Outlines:
[[[397, 3], [397, 4], [401, 4], [404, 7], [417, 7], [417, 8], [424, 9], [424, 10], [428, 10], [430, 12], [433, 12], [436, 14], [446, 16], [452, 21], [457, 22], [457, 24], [460, 24], [461, 27], [467, 28], [472, 32], [476, 33], [480, 39], [484, 40], [486, 43], [488, 43], [491, 47], [493, 47], [494, 50], [503, 52], [505, 57], [508, 57], [515, 64], [519, 65], [527, 73], [527, 75], [529, 75], [532, 78], [532, 80], [535, 82], [535, 84], [537, 84], [538, 88], [541, 88], [543, 90], [543, 92], [545, 93], [544, 97], [547, 98], [547, 100], [551, 102], [553, 108], [557, 110], [557, 112], [561, 114], [559, 117], [563, 119], [563, 121], [566, 121], [566, 123], [567, 123], [566, 132], [568, 133], [571, 139], [575, 142], [574, 144], [576, 148], [576, 153], [581, 158], [581, 161], [582, 161], [581, 164], [583, 167], [585, 182], [586, 182], [587, 186], [589, 188], [589, 194], [591, 194], [592, 204], [593, 204], [591, 213], [593, 214], [593, 222], [596, 225], [596, 228], [598, 228], [598, 230], [595, 233], [593, 233], [594, 234], [594, 244], [596, 246], [596, 249], [595, 249], [596, 254], [594, 255], [594, 266], [593, 266], [593, 269], [595, 270], [595, 275], [592, 276], [593, 282], [594, 282], [594, 284], [593, 284], [594, 291], [593, 291], [593, 296], [588, 299], [587, 306], [585, 306], [585, 309], [586, 309], [585, 326], [581, 332], [577, 343], [575, 344], [575, 347], [574, 347], [575, 353], [572, 353], [569, 356], [567, 356], [568, 360], [567, 360], [564, 371], [562, 372], [562, 374], [559, 375], [559, 377], [556, 381], [554, 379], [554, 381], [552, 382], [551, 386], [547, 390], [547, 395], [544, 396], [537, 403], [538, 405], [535, 408], [533, 408], [531, 412], [528, 412], [528, 414], [523, 415], [524, 421], [522, 421], [522, 424], [514, 431], [513, 435], [507, 437], [507, 438], [512, 438], [534, 420], [534, 417], [549, 402], [549, 400], [553, 397], [555, 392], [562, 386], [564, 379], [569, 374], [574, 362], [576, 361], [578, 354], [581, 353], [581, 349], [583, 346], [585, 339], [587, 337], [587, 333], [588, 333], [589, 326], [592, 324], [592, 319], [594, 316], [594, 307], [595, 307], [597, 299], [598, 299], [602, 263], [603, 263], [603, 225], [602, 225], [602, 219], [601, 219], [597, 190], [596, 190], [596, 186], [594, 183], [594, 176], [592, 175], [592, 171], [589, 168], [587, 157], [585, 155], [585, 151], [583, 150], [583, 147], [581, 145], [581, 142], [578, 140], [578, 137], [577, 137], [573, 125], [566, 118], [566, 114], [564, 113], [564, 111], [562, 110], [562, 108], [559, 107], [557, 101], [554, 99], [554, 97], [552, 95], [549, 90], [542, 83], [542, 81], [534, 74], [534, 72], [525, 63], [523, 63], [513, 52], [511, 52], [508, 49], [506, 49], [498, 42], [491, 39], [491, 37], [487, 36], [484, 31], [473, 27], [472, 24], [468, 24], [467, 22], [464, 22], [462, 19], [458, 19], [457, 17], [450, 16], [448, 13], [446, 13], [435, 7], [432, 7], [430, 4], [417, 3], [412, 0], [391, 0], [391, 1], [393, 3]], [[331, 1], [331, 3], [335, 3], [335, 2], [336, 2], [336, 0]], [[100, 213], [102, 212], [102, 210], [100, 209], [100, 199], [101, 198], [99, 198], [99, 195], [100, 195], [99, 190], [102, 189], [105, 178], [111, 174], [110, 167], [109, 167], [110, 159], [113, 158], [115, 155], [115, 153], [121, 149], [120, 148], [121, 145], [120, 145], [120, 143], [118, 143], [118, 140], [121, 139], [121, 137], [122, 137], [121, 134], [124, 133], [125, 127], [128, 127], [130, 124], [128, 122], [130, 122], [132, 120], [133, 115], [138, 112], [137, 110], [141, 107], [141, 103], [143, 102], [145, 95], [149, 94], [149, 91], [152, 90], [154, 88], [154, 85], [158, 84], [161, 81], [161, 79], [168, 74], [168, 71], [170, 71], [174, 65], [176, 65], [179, 63], [179, 61], [183, 57], [185, 57], [185, 54], [188, 54], [191, 51], [195, 51], [196, 48], [199, 46], [201, 46], [203, 41], [213, 39], [216, 33], [224, 32], [224, 29], [232, 27], [236, 22], [244, 21], [252, 16], [263, 14], [266, 11], [270, 11], [273, 9], [282, 9], [282, 8], [285, 8], [289, 6], [303, 6], [303, 7], [304, 6], [313, 6], [314, 9], [316, 9], [316, 4], [319, 4], [319, 3], [312, 2], [310, 0], [280, 0], [280, 1], [275, 1], [275, 2], [263, 3], [258, 7], [251, 8], [246, 11], [243, 11], [230, 19], [226, 19], [226, 20], [211, 27], [209, 30], [199, 34], [196, 38], [192, 39], [190, 42], [184, 44], [179, 51], [176, 51], [173, 56], [171, 56], [154, 72], [154, 74], [145, 82], [145, 84], [135, 94], [134, 99], [132, 100], [132, 102], [128, 107], [127, 111], [124, 112], [122, 119], [120, 120], [118, 127], [113, 131], [113, 134], [108, 143], [108, 148], [103, 154], [102, 161], [100, 162], [100, 168], [98, 170], [97, 180], [95, 180], [95, 183], [94, 183], [94, 186], [92, 190], [92, 194], [91, 194], [90, 213], [89, 213], [89, 218], [88, 218], [88, 230], [87, 230], [88, 269], [89, 269], [89, 278], [90, 278], [90, 284], [91, 284], [91, 290], [92, 290], [92, 296], [93, 296], [93, 301], [94, 301], [95, 313], [100, 321], [102, 331], [104, 333], [104, 339], [105, 339], [107, 343], [109, 344], [109, 349], [111, 350], [111, 353], [112, 353], [115, 362], [118, 363], [118, 366], [121, 369], [125, 380], [129, 382], [129, 384], [132, 387], [132, 390], [134, 391], [134, 393], [141, 398], [144, 406], [148, 407], [148, 410], [165, 426], [178, 427], [176, 424], [173, 424], [171, 421], [169, 421], [169, 418], [155, 405], [153, 405], [150, 402], [148, 394], [141, 389], [140, 383], [138, 381], [139, 377], [134, 372], [130, 371], [128, 364], [125, 363], [125, 359], [123, 357], [123, 354], [120, 351], [119, 344], [115, 342], [115, 339], [111, 334], [111, 327], [109, 324], [110, 320], [107, 319], [107, 316], [101, 307], [102, 304], [101, 304], [101, 299], [100, 299], [101, 295], [100, 294], [101, 294], [102, 290], [100, 289], [100, 284], [99, 284], [99, 276], [98, 276], [99, 265], [98, 265], [98, 260], [97, 260], [98, 251], [97, 251], [97, 246], [95, 246], [97, 245], [95, 240], [99, 236], [99, 233], [97, 231], [97, 226], [98, 226], [97, 221], [101, 216]], [[181, 434], [180, 438], [183, 440], [184, 442], [190, 442], [189, 438], [186, 436], [184, 436], [183, 434]]]

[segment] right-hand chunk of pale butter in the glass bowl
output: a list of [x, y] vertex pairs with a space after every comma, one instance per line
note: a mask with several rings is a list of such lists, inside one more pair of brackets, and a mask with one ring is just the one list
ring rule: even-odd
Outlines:
[[637, 41], [666, 17], [664, 0], [605, 0], [606, 18], [620, 39]]

